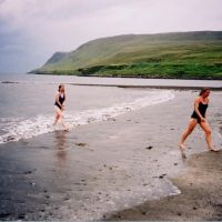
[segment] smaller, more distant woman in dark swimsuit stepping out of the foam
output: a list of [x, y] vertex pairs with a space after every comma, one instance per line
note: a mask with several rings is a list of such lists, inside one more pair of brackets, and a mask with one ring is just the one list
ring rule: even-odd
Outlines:
[[54, 118], [53, 125], [56, 127], [58, 121], [60, 120], [62, 127], [67, 131], [68, 128], [67, 128], [67, 125], [64, 124], [64, 121], [63, 121], [63, 110], [64, 110], [63, 102], [64, 102], [64, 100], [65, 100], [64, 85], [60, 84], [59, 90], [58, 90], [57, 95], [56, 95], [56, 102], [54, 102], [56, 118]]

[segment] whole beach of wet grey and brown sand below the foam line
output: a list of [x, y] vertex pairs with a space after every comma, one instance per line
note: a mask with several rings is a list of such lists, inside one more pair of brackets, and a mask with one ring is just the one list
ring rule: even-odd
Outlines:
[[[199, 128], [178, 141], [196, 91], [109, 119], [0, 145], [0, 220], [221, 220], [221, 151]], [[218, 149], [221, 91], [208, 110]]]

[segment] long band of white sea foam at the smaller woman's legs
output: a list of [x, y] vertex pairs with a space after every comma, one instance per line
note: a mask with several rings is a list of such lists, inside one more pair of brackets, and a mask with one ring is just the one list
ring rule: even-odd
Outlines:
[[[64, 113], [64, 120], [70, 129], [80, 124], [88, 124], [90, 122], [105, 121], [119, 114], [124, 114], [129, 111], [139, 110], [147, 105], [172, 100], [174, 94], [169, 90], [150, 91], [149, 95], [139, 98], [132, 102], [114, 104], [109, 108], [85, 110], [78, 113]], [[9, 141], [18, 141], [21, 139], [33, 138], [43, 133], [54, 131], [52, 127], [53, 114], [41, 115], [36, 118], [0, 118], [1, 135], [0, 143]]]

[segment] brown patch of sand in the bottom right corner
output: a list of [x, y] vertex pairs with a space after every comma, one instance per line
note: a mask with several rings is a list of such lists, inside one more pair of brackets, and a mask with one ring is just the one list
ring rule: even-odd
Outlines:
[[171, 179], [181, 194], [107, 214], [109, 221], [221, 221], [222, 152], [193, 154], [188, 171]]

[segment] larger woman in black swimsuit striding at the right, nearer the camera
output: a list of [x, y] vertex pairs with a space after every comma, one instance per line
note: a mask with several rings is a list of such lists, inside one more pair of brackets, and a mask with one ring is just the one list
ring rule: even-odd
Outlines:
[[210, 94], [210, 89], [202, 89], [199, 97], [195, 98], [194, 111], [191, 115], [191, 120], [189, 122], [188, 129], [183, 132], [181, 137], [181, 141], [179, 143], [181, 154], [183, 158], [185, 158], [185, 153], [184, 153], [185, 139], [188, 138], [188, 135], [191, 134], [191, 132], [193, 131], [193, 129], [195, 128], [198, 123], [205, 132], [205, 140], [208, 143], [209, 150], [215, 152], [215, 150], [213, 149], [213, 142], [211, 139], [211, 128], [205, 119], [205, 112], [209, 105], [209, 94]]

